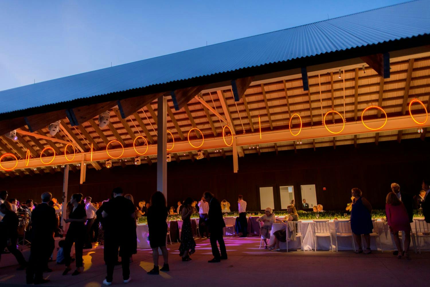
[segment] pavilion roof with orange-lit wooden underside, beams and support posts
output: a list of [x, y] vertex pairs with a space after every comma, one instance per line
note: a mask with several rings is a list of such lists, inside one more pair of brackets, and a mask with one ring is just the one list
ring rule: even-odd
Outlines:
[[[430, 1], [0, 92], [0, 177], [429, 135]], [[100, 127], [98, 116], [110, 114]], [[58, 121], [60, 131], [49, 135]], [[418, 132], [417, 132], [418, 131]], [[62, 168], [64, 167], [64, 169]], [[65, 206], [65, 205], [64, 205]]]

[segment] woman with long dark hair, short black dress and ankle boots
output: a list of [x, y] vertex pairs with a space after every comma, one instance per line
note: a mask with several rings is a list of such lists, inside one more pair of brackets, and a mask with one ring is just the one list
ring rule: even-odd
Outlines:
[[[154, 259], [154, 268], [148, 274], [157, 275], [160, 271], [169, 271], [169, 252], [166, 248], [167, 206], [163, 193], [156, 191], [152, 194], [151, 206], [147, 211], [149, 244], [152, 248], [152, 259]], [[164, 259], [164, 264], [160, 271], [158, 269], [158, 247], [160, 247]]]

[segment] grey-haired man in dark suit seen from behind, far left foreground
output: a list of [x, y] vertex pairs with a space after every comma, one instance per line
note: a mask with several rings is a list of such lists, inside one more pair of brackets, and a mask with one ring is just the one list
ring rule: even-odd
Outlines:
[[43, 279], [43, 269], [48, 265], [51, 250], [54, 250], [54, 232], [58, 229], [55, 209], [48, 205], [52, 194], [42, 194], [42, 203], [31, 214], [31, 249], [27, 268], [27, 284], [49, 282]]

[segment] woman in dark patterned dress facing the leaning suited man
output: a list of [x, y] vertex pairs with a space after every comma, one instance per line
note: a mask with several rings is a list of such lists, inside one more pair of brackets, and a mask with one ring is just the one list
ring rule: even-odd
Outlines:
[[193, 238], [193, 231], [191, 230], [191, 214], [193, 209], [191, 204], [193, 203], [192, 198], [187, 198], [184, 201], [184, 208], [182, 208], [182, 231], [181, 231], [181, 246], [179, 246], [179, 256], [182, 257], [182, 261], [190, 261], [190, 255], [196, 252], [196, 242]]

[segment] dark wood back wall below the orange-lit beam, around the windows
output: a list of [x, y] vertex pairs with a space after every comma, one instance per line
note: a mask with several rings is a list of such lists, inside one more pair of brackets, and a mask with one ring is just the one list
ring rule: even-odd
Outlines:
[[[120, 186], [135, 201], [149, 200], [156, 190], [156, 164], [148, 166], [115, 167], [100, 171], [87, 170], [86, 182], [79, 184], [79, 173], [70, 172], [69, 194], [80, 192], [93, 201], [110, 197], [112, 188]], [[280, 208], [279, 186], [293, 185], [296, 202], [301, 201], [300, 185], [315, 184], [318, 203], [326, 210], [343, 209], [350, 200], [350, 190], [361, 188], [374, 208], [384, 208], [390, 183], [398, 182], [401, 189], [416, 194], [421, 180], [430, 176], [430, 143], [421, 140], [380, 142], [298, 150], [275, 153], [246, 154], [239, 158], [239, 172], [233, 173], [231, 157], [173, 161], [168, 164], [168, 203], [190, 196], [200, 199], [209, 190], [226, 199], [237, 210], [237, 196], [243, 194], [248, 210], [260, 206], [259, 187], [273, 186], [275, 207]], [[0, 180], [0, 189], [9, 197], [25, 201], [40, 201], [40, 194], [49, 191], [61, 198], [63, 174], [44, 174]], [[326, 191], [323, 191], [323, 188]]]

